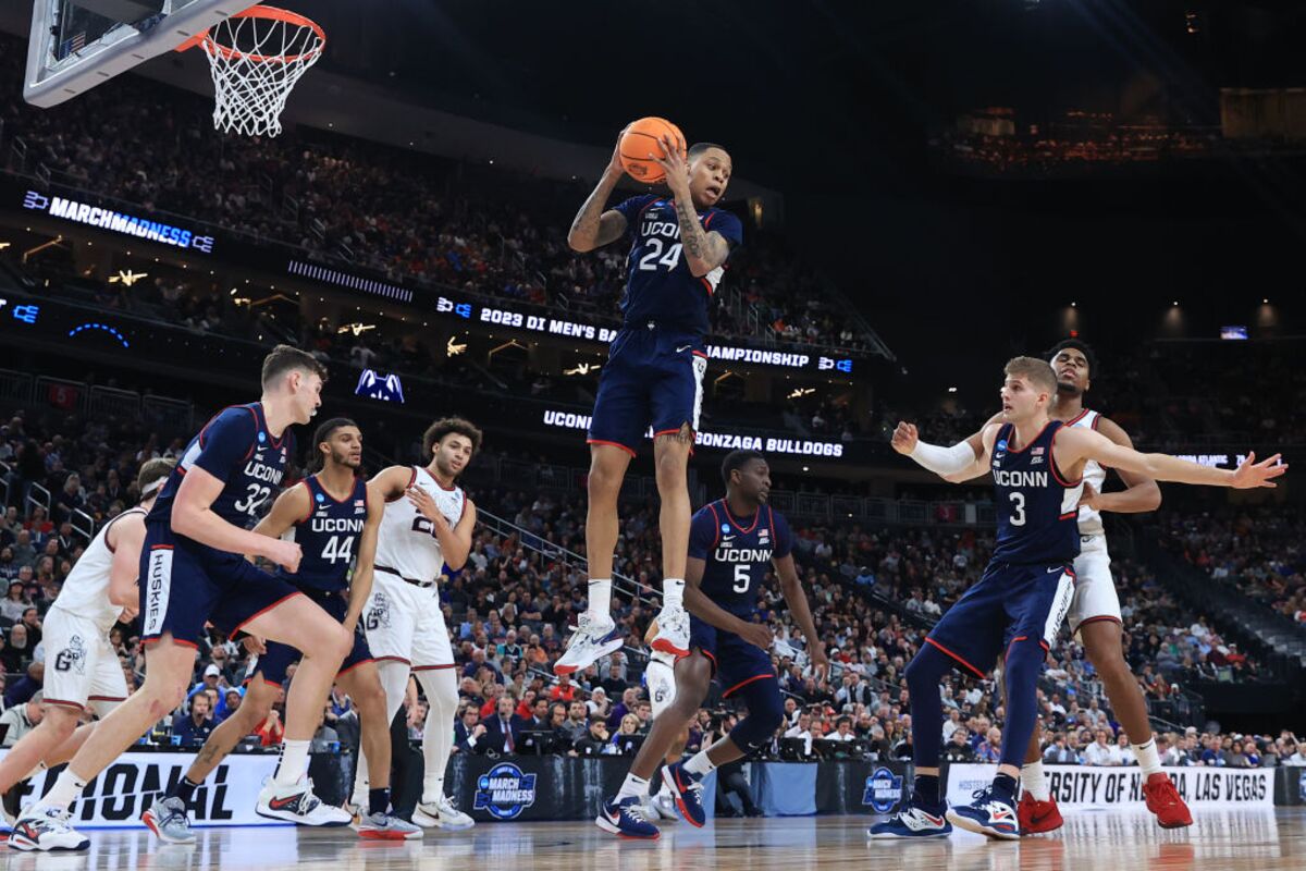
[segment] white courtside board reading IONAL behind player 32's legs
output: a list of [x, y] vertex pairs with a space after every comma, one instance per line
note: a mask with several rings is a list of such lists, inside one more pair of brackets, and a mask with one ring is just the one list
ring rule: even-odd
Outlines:
[[[73, 825], [140, 828], [141, 814], [175, 786], [195, 761], [193, 753], [124, 753], [82, 790], [71, 808]], [[191, 819], [205, 825], [286, 825], [253, 812], [259, 790], [277, 769], [276, 753], [234, 753], [195, 791]], [[55, 769], [59, 772], [61, 769]], [[57, 773], [31, 778], [20, 804], [26, 807], [55, 785]]]

